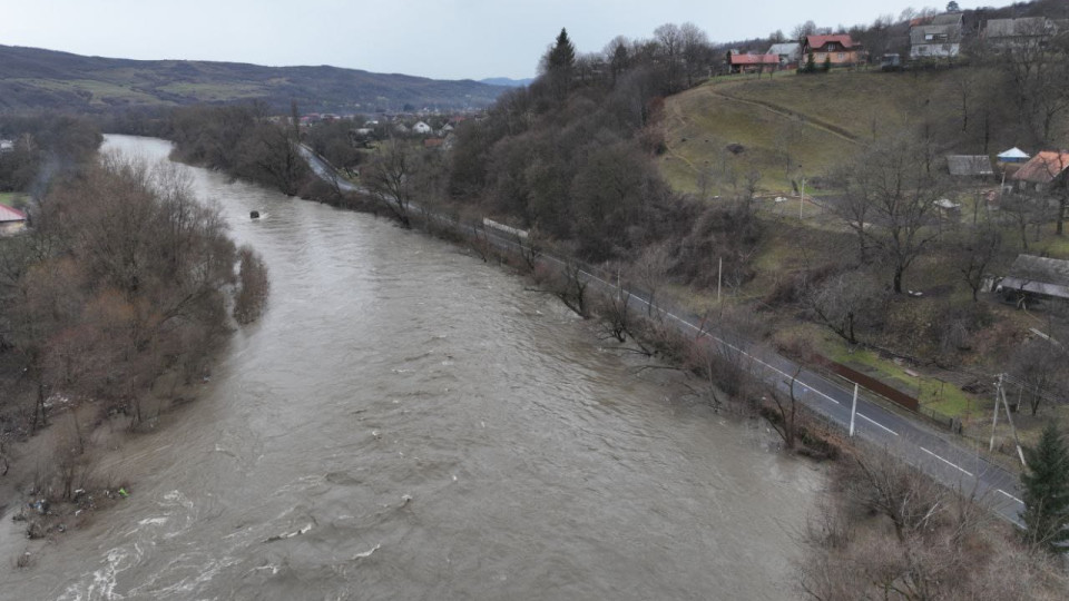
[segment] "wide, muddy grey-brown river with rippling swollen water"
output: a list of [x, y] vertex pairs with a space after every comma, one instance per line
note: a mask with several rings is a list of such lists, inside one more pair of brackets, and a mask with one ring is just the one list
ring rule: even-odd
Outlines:
[[129, 499], [3, 559], [2, 599], [795, 597], [824, 480], [764, 425], [459, 247], [190, 171], [265, 257], [267, 312], [100, 467]]

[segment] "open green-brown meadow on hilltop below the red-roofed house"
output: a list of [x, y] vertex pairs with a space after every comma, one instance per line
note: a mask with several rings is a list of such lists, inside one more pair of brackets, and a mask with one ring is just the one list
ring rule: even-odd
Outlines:
[[[925, 122], [945, 140], [942, 150], [979, 152], [979, 119], [973, 116], [972, 130], [961, 132], [957, 78], [964, 73], [977, 80], [983, 75], [962, 68], [717, 79], [666, 101], [668, 152], [663, 169], [681, 190], [697, 189], [702, 169], [712, 169], [714, 179], [723, 180], [716, 176], [734, 168], [741, 179], [759, 171], [759, 187], [766, 191], [786, 191], [791, 177], [823, 176], [873, 136]], [[990, 151], [1019, 144], [1012, 135], [997, 134]], [[733, 144], [742, 145], [743, 151], [727, 152]], [[727, 191], [723, 185], [720, 190]]]

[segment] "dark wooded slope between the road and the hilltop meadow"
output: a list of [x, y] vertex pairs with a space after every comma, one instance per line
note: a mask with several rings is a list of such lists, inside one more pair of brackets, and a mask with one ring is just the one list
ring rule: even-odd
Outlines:
[[654, 40], [617, 38], [580, 57], [562, 30], [530, 87], [459, 128], [447, 196], [587, 260], [658, 252], [680, 282], [698, 284], [718, 257], [745, 270], [759, 230], [753, 188], [709, 206], [673, 191], [654, 164], [665, 150], [661, 98], [697, 81], [699, 48], [708, 43], [693, 26], [663, 26]]

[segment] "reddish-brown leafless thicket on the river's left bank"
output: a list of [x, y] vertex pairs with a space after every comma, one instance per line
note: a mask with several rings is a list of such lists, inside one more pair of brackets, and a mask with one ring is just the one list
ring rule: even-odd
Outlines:
[[136, 425], [159, 376], [198, 377], [229, 332], [238, 255], [219, 210], [178, 167], [107, 156], [55, 183], [32, 215], [24, 235], [0, 238], [0, 424], [32, 432], [53, 403], [89, 400]]

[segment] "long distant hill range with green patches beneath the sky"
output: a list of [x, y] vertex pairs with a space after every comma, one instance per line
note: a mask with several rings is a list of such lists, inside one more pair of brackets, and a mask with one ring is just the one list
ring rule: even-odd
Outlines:
[[296, 100], [302, 112], [463, 109], [490, 105], [503, 86], [327, 66], [129, 60], [0, 46], [0, 111], [50, 108], [106, 112], [127, 107], [253, 100], [279, 111], [288, 111], [291, 100]]

